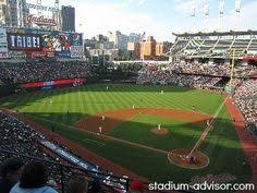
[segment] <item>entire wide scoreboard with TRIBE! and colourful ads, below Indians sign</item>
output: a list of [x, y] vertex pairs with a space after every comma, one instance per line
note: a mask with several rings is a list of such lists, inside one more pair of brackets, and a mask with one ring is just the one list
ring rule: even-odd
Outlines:
[[26, 29], [8, 33], [11, 51], [25, 51], [27, 58], [82, 58], [83, 35], [57, 31]]

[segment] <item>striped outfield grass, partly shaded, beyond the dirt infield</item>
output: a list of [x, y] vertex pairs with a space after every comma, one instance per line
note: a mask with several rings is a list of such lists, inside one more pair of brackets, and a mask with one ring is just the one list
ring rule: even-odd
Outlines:
[[[20, 112], [74, 124], [81, 118], [105, 110], [136, 107], [179, 108], [213, 114], [223, 97], [187, 88], [142, 85], [88, 85], [79, 88], [35, 92], [11, 97], [3, 105]], [[160, 94], [163, 91], [164, 94]], [[52, 102], [50, 102], [50, 99]], [[143, 100], [143, 101], [142, 101]], [[66, 112], [69, 122], [66, 121]]]

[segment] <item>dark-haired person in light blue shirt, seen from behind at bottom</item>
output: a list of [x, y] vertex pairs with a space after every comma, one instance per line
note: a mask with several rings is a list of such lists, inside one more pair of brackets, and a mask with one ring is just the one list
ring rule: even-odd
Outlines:
[[47, 170], [39, 161], [29, 161], [25, 165], [20, 182], [10, 193], [57, 193], [47, 186]]

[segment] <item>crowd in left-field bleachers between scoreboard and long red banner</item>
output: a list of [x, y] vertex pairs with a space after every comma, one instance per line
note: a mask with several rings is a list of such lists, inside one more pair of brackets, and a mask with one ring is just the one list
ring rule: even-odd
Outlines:
[[86, 77], [89, 72], [84, 61], [0, 63], [0, 81], [7, 84]]

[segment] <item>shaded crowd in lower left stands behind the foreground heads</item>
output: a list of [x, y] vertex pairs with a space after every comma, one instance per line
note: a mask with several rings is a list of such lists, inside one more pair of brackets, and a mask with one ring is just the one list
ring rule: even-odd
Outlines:
[[[58, 157], [52, 157], [45, 153], [38, 145], [38, 140], [46, 138], [44, 135], [24, 122], [3, 112], [0, 112], [0, 136], [2, 138], [0, 141], [0, 149], [16, 153], [17, 155], [37, 157], [38, 159], [50, 162], [59, 162]], [[8, 159], [9, 156], [8, 154], [1, 153], [0, 162]], [[49, 164], [49, 171], [51, 179], [54, 179], [60, 184], [61, 176], [59, 166]], [[64, 172], [66, 177], [71, 176], [71, 171], [65, 170]]]

